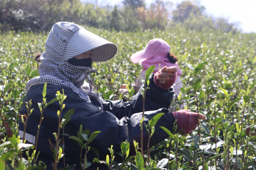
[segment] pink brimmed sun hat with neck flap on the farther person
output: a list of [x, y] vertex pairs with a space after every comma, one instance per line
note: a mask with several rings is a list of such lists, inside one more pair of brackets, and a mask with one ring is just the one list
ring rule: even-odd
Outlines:
[[167, 53], [169, 52], [170, 45], [163, 39], [155, 38], [148, 41], [144, 50], [134, 53], [131, 56], [131, 60], [133, 63], [142, 63], [144, 69], [147, 69], [151, 65], [155, 65], [156, 68], [154, 70], [154, 73], [159, 70], [159, 64], [161, 68], [164, 66], [176, 66], [178, 68], [177, 75], [180, 76], [182, 74], [182, 71], [178, 65], [178, 62], [169, 62], [169, 59], [167, 57]]

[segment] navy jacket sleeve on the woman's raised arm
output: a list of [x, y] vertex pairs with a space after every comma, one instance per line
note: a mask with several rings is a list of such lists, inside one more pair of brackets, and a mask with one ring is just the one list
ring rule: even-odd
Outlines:
[[[158, 87], [154, 82], [154, 74], [150, 77], [149, 89], [146, 90], [145, 111], [158, 110], [161, 108], [169, 108], [173, 100], [174, 89], [168, 90]], [[143, 96], [141, 88], [134, 96], [131, 102], [123, 102], [122, 100], [103, 101], [103, 110], [113, 113], [119, 119], [127, 116], [131, 117], [134, 113], [142, 112]]]

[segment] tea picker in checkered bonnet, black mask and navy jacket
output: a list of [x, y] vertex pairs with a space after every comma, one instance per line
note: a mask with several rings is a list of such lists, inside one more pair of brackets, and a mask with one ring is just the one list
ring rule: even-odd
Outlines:
[[[61, 114], [64, 116], [68, 110], [75, 109], [71, 120], [65, 126], [65, 133], [70, 136], [77, 136], [80, 125], [82, 130], [89, 129], [90, 132], [100, 131], [99, 135], [90, 142], [99, 152], [99, 160], [104, 160], [109, 154], [108, 148], [113, 145], [115, 152], [121, 152], [120, 144], [128, 140], [140, 141], [140, 120], [142, 118], [142, 93], [139, 91], [131, 102], [104, 101], [100, 98], [95, 84], [90, 79], [91, 73], [96, 70], [91, 68], [92, 61], [106, 61], [115, 56], [117, 46], [89, 31], [70, 22], [57, 22], [46, 41], [46, 51], [39, 56], [41, 64], [39, 75], [28, 81], [26, 85], [27, 94], [20, 109], [20, 114], [27, 114], [26, 102], [32, 99], [34, 108], [28, 118], [26, 128], [26, 142], [35, 144], [35, 137], [40, 122], [40, 110], [37, 103], [42, 101], [42, 90], [47, 83], [47, 102], [56, 97], [56, 91], [64, 90], [67, 95], [65, 108]], [[174, 68], [166, 68], [173, 70]], [[176, 74], [175, 74], [176, 75]], [[89, 85], [84, 86], [84, 80]], [[174, 90], [170, 86], [163, 89], [157, 86], [154, 75], [150, 77], [150, 89], [146, 92], [145, 118], [144, 123], [158, 113], [165, 113], [155, 126], [155, 133], [151, 138], [151, 144], [157, 144], [168, 135], [160, 128], [164, 126], [173, 132], [174, 122], [177, 119], [178, 129], [182, 133], [189, 133], [198, 124], [198, 114], [188, 110], [169, 112], [167, 109], [173, 99]], [[43, 161], [47, 169], [51, 169], [53, 159], [52, 151], [49, 149], [48, 141], [55, 141], [54, 132], [58, 130], [58, 102], [49, 105], [44, 111], [40, 133], [37, 143], [37, 152], [40, 154], [38, 161]], [[204, 119], [204, 115], [199, 118]], [[24, 134], [24, 124], [19, 121], [19, 135]], [[88, 134], [89, 135], [89, 134]], [[143, 134], [144, 149], [147, 144], [146, 129]], [[54, 142], [55, 143], [55, 142]], [[87, 154], [87, 161], [92, 162], [88, 169], [106, 169], [105, 165], [93, 163], [97, 155], [90, 150]], [[25, 153], [25, 152], [24, 152]], [[134, 155], [134, 147], [131, 147], [130, 155]], [[80, 167], [80, 148], [72, 139], [65, 136], [65, 162], [69, 165], [76, 164], [75, 169]], [[84, 150], [82, 155], [84, 155]], [[25, 158], [26, 154], [23, 155]], [[118, 154], [115, 160], [119, 162]], [[63, 167], [63, 159], [60, 159], [58, 167]]]

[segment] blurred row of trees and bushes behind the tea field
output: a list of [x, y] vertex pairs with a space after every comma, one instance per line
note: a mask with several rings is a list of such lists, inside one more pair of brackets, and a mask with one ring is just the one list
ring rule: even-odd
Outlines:
[[226, 18], [207, 16], [205, 8], [190, 1], [173, 4], [156, 0], [146, 7], [143, 0], [124, 0], [120, 6], [99, 6], [79, 0], [0, 0], [0, 30], [50, 31], [58, 21], [116, 31], [167, 30], [174, 25], [187, 30], [237, 32]]

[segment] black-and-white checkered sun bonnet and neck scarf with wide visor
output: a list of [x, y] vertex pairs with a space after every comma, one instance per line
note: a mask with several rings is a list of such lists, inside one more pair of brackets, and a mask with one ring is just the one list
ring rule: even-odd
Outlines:
[[[40, 76], [28, 81], [26, 91], [32, 86], [49, 83], [72, 88], [82, 100], [91, 102], [90, 98], [95, 98], [101, 103], [98, 89], [90, 79], [91, 73], [98, 72], [68, 62], [90, 50], [93, 50], [92, 61], [106, 61], [115, 56], [117, 46], [74, 23], [55, 23], [46, 40], [46, 51], [39, 58]], [[89, 86], [84, 86], [84, 80]], [[100, 109], [103, 111], [102, 104]]]

